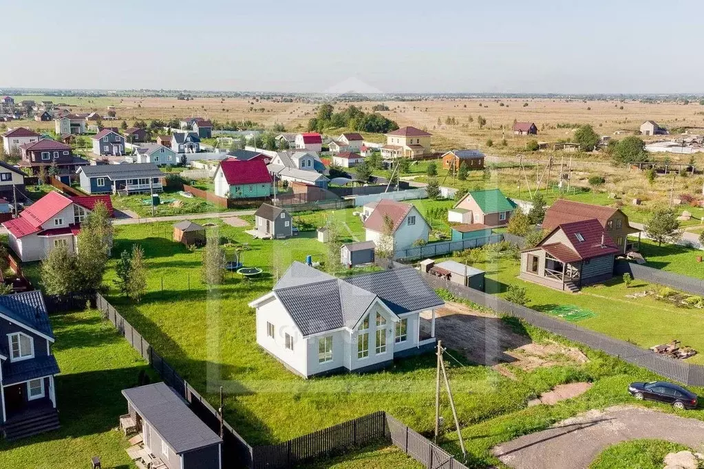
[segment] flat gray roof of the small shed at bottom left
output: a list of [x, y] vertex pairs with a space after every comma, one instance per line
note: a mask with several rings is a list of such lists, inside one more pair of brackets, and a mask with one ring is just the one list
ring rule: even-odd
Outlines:
[[122, 395], [177, 454], [222, 442], [164, 383], [122, 390]]

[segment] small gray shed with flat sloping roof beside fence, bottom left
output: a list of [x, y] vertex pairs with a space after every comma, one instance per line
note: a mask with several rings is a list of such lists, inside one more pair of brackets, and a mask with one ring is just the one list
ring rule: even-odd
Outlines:
[[122, 390], [145, 449], [169, 468], [222, 468], [222, 439], [164, 383]]

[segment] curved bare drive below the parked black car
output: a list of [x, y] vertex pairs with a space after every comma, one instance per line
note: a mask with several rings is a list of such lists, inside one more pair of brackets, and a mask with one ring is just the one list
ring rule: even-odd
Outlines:
[[515, 469], [584, 469], [608, 446], [639, 438], [665, 439], [698, 450], [704, 444], [704, 422], [617, 406], [567, 419], [501, 444], [493, 452]]

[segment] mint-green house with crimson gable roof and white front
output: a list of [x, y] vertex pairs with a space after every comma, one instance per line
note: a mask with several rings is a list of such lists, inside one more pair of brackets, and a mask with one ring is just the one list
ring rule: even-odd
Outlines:
[[272, 193], [272, 178], [266, 163], [253, 158], [239, 161], [222, 160], [213, 178], [215, 195], [225, 198], [261, 198]]

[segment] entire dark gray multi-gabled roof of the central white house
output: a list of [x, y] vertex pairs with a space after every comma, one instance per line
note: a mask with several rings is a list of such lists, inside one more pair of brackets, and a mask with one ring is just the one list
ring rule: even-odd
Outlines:
[[444, 304], [410, 267], [341, 280], [294, 262], [273, 290], [304, 336], [352, 328], [377, 298], [395, 314]]

